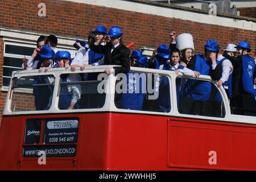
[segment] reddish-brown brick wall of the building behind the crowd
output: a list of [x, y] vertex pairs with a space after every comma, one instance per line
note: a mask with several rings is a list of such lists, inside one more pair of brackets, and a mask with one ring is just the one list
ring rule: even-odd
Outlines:
[[[44, 18], [37, 15], [40, 2], [42, 1], [0, 0], [0, 27], [86, 39], [88, 32], [98, 24], [108, 29], [116, 25], [122, 27], [126, 45], [135, 42], [133, 48], [168, 44], [169, 32], [175, 30], [177, 34], [191, 33], [196, 52], [199, 53], [203, 52], [207, 39], [217, 39], [221, 49], [228, 43], [237, 44], [239, 40], [248, 40], [253, 49], [251, 55], [254, 56], [255, 53], [256, 31], [60, 0], [44, 1], [47, 14]], [[0, 38], [0, 72], [2, 72], [2, 64], [3, 41]], [[0, 84], [2, 84], [2, 77], [0, 77]], [[5, 97], [6, 93], [1, 92], [0, 112], [3, 110]]]

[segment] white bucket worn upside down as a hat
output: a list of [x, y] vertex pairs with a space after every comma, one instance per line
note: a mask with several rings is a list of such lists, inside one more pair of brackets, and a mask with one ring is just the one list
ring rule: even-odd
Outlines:
[[177, 36], [176, 39], [177, 42], [177, 48], [182, 51], [184, 49], [192, 49], [195, 51], [194, 43], [193, 43], [193, 37], [191, 34], [180, 34]]

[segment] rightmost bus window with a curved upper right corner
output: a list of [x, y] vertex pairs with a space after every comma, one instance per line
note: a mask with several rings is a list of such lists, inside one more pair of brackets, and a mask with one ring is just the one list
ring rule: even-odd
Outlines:
[[181, 114], [225, 117], [221, 93], [209, 81], [176, 78], [177, 107]]

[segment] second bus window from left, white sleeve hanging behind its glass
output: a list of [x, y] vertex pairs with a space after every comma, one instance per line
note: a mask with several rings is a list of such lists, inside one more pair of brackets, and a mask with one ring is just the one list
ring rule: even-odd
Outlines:
[[[72, 73], [61, 75], [59, 109], [95, 109], [103, 107], [106, 92], [102, 93], [101, 90], [98, 90], [98, 84], [102, 82], [102, 80], [98, 80], [98, 75], [100, 75], [100, 73]], [[104, 77], [104, 81], [106, 82], [107, 80], [108, 77]]]

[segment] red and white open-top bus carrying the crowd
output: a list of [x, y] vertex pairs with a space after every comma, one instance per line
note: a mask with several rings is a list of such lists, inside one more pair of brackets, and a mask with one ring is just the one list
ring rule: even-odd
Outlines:
[[[134, 67], [105, 75], [112, 67], [13, 72], [0, 170], [256, 169], [256, 117], [231, 114], [225, 90], [209, 76]], [[82, 80], [63, 79], [77, 75]], [[184, 112], [183, 90], [202, 82], [212, 90], [202, 108], [208, 114]], [[77, 88], [76, 107], [61, 109], [60, 98]]]

